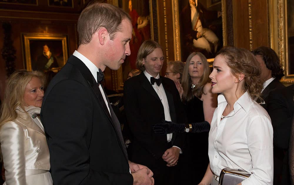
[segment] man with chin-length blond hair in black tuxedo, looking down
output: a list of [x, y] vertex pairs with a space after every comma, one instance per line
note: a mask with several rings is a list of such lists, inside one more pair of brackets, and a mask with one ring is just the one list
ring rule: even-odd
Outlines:
[[164, 61], [161, 46], [144, 41], [137, 67], [143, 72], [124, 83], [127, 122], [134, 136], [132, 160], [147, 165], [156, 184], [177, 184], [178, 158], [183, 134], [157, 135], [152, 125], [163, 120], [185, 123], [185, 112], [175, 83], [159, 75]]

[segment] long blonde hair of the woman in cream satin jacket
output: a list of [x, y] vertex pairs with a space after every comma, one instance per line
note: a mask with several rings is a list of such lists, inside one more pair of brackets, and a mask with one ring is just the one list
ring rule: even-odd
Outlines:
[[39, 78], [44, 85], [45, 76], [41, 71], [17, 70], [8, 78], [1, 105], [0, 128], [4, 123], [16, 119], [16, 107], [25, 110], [24, 91], [33, 77]]

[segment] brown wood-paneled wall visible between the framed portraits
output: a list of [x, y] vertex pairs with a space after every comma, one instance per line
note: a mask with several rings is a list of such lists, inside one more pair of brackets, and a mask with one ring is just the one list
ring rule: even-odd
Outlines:
[[[182, 0], [178, 0], [182, 1]], [[173, 25], [173, 3], [176, 0], [156, 0], [158, 42], [161, 44], [166, 56], [166, 61], [175, 60], [174, 45], [174, 25]], [[188, 1], [188, 0], [187, 0]], [[227, 3], [227, 15], [231, 22], [228, 24], [227, 38], [229, 45], [255, 49], [258, 46], [270, 46], [269, 42], [269, 20], [268, 20], [268, 0], [224, 0]], [[108, 1], [109, 2], [109, 1]], [[1, 4], [3, 5], [3, 4]], [[68, 36], [68, 52], [71, 55], [78, 47], [76, 22], [78, 19], [80, 5], [78, 9], [58, 9], [57, 13], [49, 12], [45, 4], [41, 11], [36, 7], [31, 7], [24, 11], [22, 6], [19, 9], [8, 9], [1, 7], [0, 23], [9, 22], [12, 25], [12, 40], [16, 49], [16, 69], [24, 68], [24, 58], [22, 54], [21, 33], [62, 33]], [[6, 9], [5, 9], [6, 8]], [[66, 12], [66, 13], [64, 13]], [[233, 36], [232, 36], [233, 35]], [[0, 49], [3, 47], [3, 29], [0, 28]], [[233, 37], [233, 38], [232, 38]], [[232, 40], [232, 41], [230, 41]], [[164, 75], [166, 63], [163, 66], [161, 75]], [[106, 69], [106, 87], [113, 89], [112, 71]], [[0, 99], [3, 99], [4, 86], [6, 80], [5, 62], [0, 57]]]

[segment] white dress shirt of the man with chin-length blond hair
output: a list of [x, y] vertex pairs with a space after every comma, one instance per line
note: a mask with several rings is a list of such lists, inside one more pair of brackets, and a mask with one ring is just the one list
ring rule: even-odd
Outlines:
[[[149, 73], [147, 73], [146, 71], [144, 71], [143, 73], [146, 76], [146, 78], [149, 80], [149, 82], [151, 83], [150, 78], [152, 76]], [[159, 74], [156, 76], [156, 79], [159, 79]], [[166, 121], [171, 121], [171, 115], [169, 113], [168, 100], [167, 100], [166, 93], [164, 91], [162, 83], [159, 86], [156, 83], [154, 83], [152, 85], [152, 87], [155, 90], [156, 94], [158, 95], [158, 97], [161, 100], [161, 103], [163, 105], [164, 119]], [[166, 137], [167, 137], [167, 142], [171, 142], [173, 134], [166, 134]], [[173, 146], [173, 147], [177, 147], [177, 146]], [[180, 153], [182, 153], [181, 148], [179, 148], [179, 147], [177, 147], [177, 148], [180, 149]]]

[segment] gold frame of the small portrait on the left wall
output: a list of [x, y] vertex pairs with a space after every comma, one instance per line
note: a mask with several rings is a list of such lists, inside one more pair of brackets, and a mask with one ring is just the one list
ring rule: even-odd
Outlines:
[[[44, 34], [44, 33], [22, 33], [23, 38], [23, 58], [25, 58], [25, 68], [26, 70], [32, 70], [32, 61], [31, 61], [31, 48], [30, 41], [61, 41], [62, 43], [62, 53], [63, 53], [63, 65], [68, 59], [68, 49], [67, 49], [67, 37], [64, 35], [58, 34]], [[60, 66], [61, 68], [62, 66]], [[59, 68], [54, 68], [52, 70], [59, 70]]]

